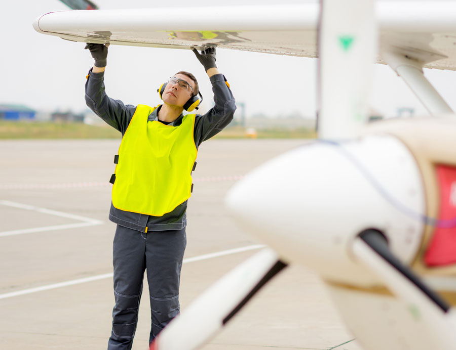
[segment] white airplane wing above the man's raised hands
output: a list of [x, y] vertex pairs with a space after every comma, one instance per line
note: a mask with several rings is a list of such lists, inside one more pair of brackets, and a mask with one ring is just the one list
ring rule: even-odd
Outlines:
[[[63, 39], [175, 49], [223, 49], [317, 57], [319, 5], [60, 11], [35, 20], [36, 31]], [[455, 2], [379, 2], [380, 48], [423, 53], [425, 67], [456, 70]], [[433, 60], [429, 62], [429, 58]]]

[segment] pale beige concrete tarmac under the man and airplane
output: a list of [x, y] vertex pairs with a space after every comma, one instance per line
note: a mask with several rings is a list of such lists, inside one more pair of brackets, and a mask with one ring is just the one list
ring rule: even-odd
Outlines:
[[[239, 176], [302, 143], [203, 143], [187, 210], [185, 258], [260, 244], [236, 226], [223, 198]], [[119, 144], [0, 141], [0, 349], [106, 348], [114, 303], [110, 274], [116, 227], [108, 221], [108, 181]], [[181, 310], [257, 251], [185, 263]], [[144, 288], [147, 296], [146, 281]], [[140, 305], [133, 349], [147, 348], [147, 299], [143, 296]], [[318, 276], [300, 266], [280, 273], [202, 348], [361, 349]]]

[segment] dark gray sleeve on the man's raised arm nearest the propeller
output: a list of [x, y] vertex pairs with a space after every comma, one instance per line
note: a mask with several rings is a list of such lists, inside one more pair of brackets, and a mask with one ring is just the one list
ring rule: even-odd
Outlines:
[[196, 116], [194, 138], [197, 146], [218, 134], [226, 125], [230, 124], [236, 111], [236, 100], [223, 74], [214, 74], [210, 77], [210, 80], [215, 106], [206, 114], [198, 114]]

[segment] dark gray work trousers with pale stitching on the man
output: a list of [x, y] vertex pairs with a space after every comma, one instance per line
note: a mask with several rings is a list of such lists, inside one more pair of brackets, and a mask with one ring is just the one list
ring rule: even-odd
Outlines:
[[144, 270], [149, 285], [149, 343], [179, 313], [179, 281], [186, 246], [182, 230], [147, 233], [118, 225], [113, 243], [114, 296], [108, 350], [131, 349]]

